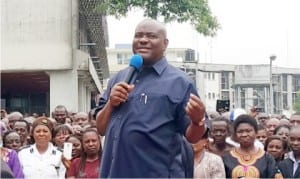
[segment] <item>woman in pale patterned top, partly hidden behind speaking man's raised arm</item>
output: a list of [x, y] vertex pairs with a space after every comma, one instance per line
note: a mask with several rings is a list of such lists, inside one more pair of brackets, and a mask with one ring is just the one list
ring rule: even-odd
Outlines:
[[196, 144], [194, 150], [194, 178], [225, 178], [222, 158], [207, 152], [208, 132]]

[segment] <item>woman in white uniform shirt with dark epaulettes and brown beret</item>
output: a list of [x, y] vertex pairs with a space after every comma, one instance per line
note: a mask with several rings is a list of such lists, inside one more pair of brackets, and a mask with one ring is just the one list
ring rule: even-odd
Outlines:
[[65, 178], [62, 152], [51, 143], [52, 129], [53, 124], [47, 117], [39, 117], [33, 122], [34, 144], [18, 153], [25, 178]]

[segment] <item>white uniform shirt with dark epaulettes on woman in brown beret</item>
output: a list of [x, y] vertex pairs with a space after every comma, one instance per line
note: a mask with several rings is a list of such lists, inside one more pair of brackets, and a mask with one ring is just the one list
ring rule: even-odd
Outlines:
[[66, 168], [61, 162], [62, 152], [49, 143], [45, 153], [40, 154], [36, 145], [19, 151], [18, 157], [25, 178], [65, 178]]

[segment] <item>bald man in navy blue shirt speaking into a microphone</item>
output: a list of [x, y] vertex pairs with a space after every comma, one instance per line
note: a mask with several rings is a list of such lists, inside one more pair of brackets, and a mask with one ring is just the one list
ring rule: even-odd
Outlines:
[[[193, 82], [168, 64], [163, 24], [138, 24], [133, 53], [143, 64], [126, 83], [132, 67], [120, 71], [100, 99], [97, 129], [105, 135], [101, 178], [185, 177], [183, 136], [197, 142], [205, 131], [205, 107]], [[192, 162], [192, 161], [191, 161]]]

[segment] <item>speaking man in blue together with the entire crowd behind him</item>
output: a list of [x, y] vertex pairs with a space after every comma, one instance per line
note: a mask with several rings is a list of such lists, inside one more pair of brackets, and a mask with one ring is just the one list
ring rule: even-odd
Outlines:
[[142, 68], [132, 84], [128, 68], [110, 79], [89, 112], [2, 110], [1, 177], [300, 178], [300, 113], [206, 111], [191, 79], [167, 63], [167, 45], [161, 23], [139, 23]]

